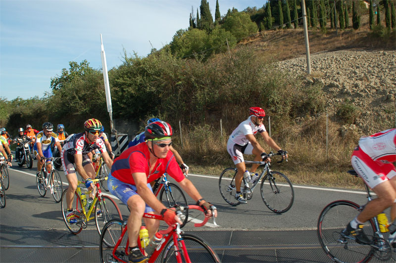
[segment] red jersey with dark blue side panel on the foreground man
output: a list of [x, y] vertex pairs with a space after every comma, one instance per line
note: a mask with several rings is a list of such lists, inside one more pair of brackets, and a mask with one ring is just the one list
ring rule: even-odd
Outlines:
[[115, 159], [111, 167], [111, 175], [122, 182], [133, 185], [135, 185], [135, 180], [132, 176], [134, 173], [145, 173], [148, 183], [161, 177], [164, 173], [173, 177], [177, 182], [185, 178], [171, 151], [168, 152], [165, 158], [157, 159], [154, 170], [151, 173], [149, 172], [149, 166], [150, 152], [146, 142], [143, 142], [128, 148]]

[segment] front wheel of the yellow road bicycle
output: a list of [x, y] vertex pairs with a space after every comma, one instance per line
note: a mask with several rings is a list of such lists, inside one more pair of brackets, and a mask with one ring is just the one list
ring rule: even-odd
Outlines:
[[95, 204], [95, 224], [101, 234], [103, 226], [111, 219], [122, 220], [122, 215], [117, 204], [107, 195], [102, 195]]

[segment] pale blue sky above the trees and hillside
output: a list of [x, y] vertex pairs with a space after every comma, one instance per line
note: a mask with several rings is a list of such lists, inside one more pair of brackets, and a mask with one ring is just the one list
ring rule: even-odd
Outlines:
[[[208, 0], [214, 16], [216, 0]], [[229, 8], [260, 8], [265, 0], [219, 0]], [[121, 64], [122, 50], [147, 56], [189, 26], [200, 0], [0, 0], [0, 97], [43, 97], [50, 79], [84, 59], [101, 69], [100, 34], [107, 68]]]

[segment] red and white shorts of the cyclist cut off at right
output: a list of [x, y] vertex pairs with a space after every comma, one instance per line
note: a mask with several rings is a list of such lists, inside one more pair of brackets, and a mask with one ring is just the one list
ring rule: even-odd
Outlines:
[[353, 169], [371, 189], [396, 176], [396, 169], [392, 163], [374, 161], [360, 147], [355, 148], [350, 161]]

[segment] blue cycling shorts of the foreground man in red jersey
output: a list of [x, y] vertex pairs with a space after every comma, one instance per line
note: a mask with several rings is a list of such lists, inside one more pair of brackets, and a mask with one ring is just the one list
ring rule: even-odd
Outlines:
[[[117, 178], [113, 177], [111, 174], [108, 175], [107, 178], [107, 189], [113, 195], [117, 196], [124, 204], [127, 204], [128, 199], [131, 196], [139, 195], [137, 193], [136, 185], [125, 183], [123, 181], [118, 180]], [[151, 190], [151, 185], [147, 184], [148, 189]], [[145, 213], [154, 212], [154, 210], [146, 204]]]

